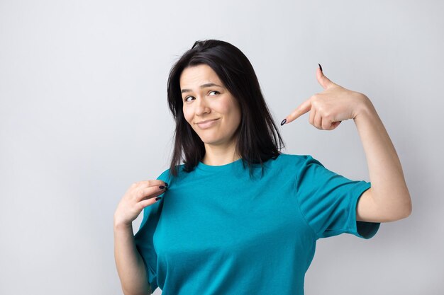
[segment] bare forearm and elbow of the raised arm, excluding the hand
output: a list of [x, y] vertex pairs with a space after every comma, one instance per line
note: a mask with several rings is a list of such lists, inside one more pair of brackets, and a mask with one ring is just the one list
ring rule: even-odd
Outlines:
[[360, 221], [396, 221], [411, 214], [411, 197], [401, 162], [370, 99], [362, 97], [361, 109], [353, 119], [360, 135], [372, 187], [357, 204]]

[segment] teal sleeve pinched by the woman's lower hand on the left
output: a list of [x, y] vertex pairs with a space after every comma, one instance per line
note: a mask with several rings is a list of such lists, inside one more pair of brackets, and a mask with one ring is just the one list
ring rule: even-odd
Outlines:
[[[168, 170], [167, 170], [168, 171]], [[167, 171], [163, 172], [158, 178], [168, 183]], [[169, 183], [170, 184], [170, 183]], [[162, 197], [162, 195], [160, 195]], [[162, 212], [162, 202], [158, 201], [143, 209], [143, 219], [140, 227], [134, 235], [135, 248], [142, 256], [145, 263], [145, 270], [147, 279], [150, 283], [151, 291], [157, 289], [157, 254], [154, 248], [154, 232], [157, 227], [157, 222]]]

